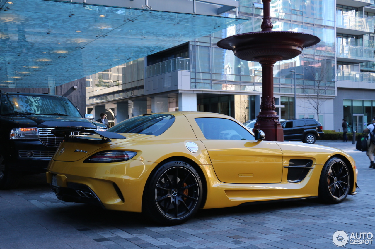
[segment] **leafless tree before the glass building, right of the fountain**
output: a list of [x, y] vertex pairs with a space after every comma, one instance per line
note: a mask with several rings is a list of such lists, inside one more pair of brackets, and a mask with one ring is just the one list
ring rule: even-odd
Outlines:
[[[305, 104], [309, 106], [305, 108], [313, 110], [317, 114], [322, 112], [321, 108], [330, 96], [335, 95], [335, 70], [333, 59], [326, 58], [324, 51], [318, 50], [318, 55], [315, 58], [306, 59], [304, 61], [304, 75], [305, 83], [313, 82], [314, 84], [303, 86], [303, 93]], [[307, 81], [306, 81], [307, 80]]]

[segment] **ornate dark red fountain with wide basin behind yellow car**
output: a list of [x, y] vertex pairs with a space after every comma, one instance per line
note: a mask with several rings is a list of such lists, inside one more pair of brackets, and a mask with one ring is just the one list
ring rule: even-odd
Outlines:
[[[260, 113], [255, 129], [266, 134], [266, 140], [284, 141], [284, 132], [279, 116], [275, 111], [273, 97], [273, 65], [276, 61], [294, 58], [302, 53], [303, 48], [320, 42], [316, 36], [294, 31], [272, 31], [270, 17], [271, 0], [263, 2], [262, 31], [237, 34], [220, 40], [217, 46], [233, 50], [234, 55], [245, 61], [258, 61], [262, 65], [263, 88]], [[296, 103], [294, 103], [296, 104]]]

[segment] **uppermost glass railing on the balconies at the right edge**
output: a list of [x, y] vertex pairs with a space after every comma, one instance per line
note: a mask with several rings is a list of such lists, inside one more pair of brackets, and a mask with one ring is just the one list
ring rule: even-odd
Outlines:
[[374, 19], [336, 15], [336, 27], [374, 33]]

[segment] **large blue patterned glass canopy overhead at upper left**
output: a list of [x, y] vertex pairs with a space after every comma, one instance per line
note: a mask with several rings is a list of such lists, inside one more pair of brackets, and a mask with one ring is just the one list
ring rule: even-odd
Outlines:
[[0, 0], [0, 87], [53, 87], [247, 21], [49, 0]]

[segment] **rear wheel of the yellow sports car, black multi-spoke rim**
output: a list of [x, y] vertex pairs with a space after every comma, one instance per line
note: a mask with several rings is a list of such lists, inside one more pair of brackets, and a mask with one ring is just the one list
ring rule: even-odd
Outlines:
[[201, 178], [189, 163], [166, 162], [150, 175], [144, 189], [142, 212], [160, 224], [181, 224], [199, 209], [202, 191]]

